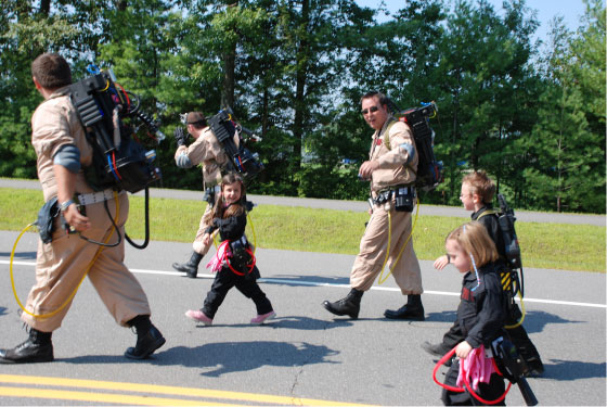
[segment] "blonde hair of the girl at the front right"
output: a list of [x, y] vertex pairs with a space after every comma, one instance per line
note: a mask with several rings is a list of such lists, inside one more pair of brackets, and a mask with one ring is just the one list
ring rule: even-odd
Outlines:
[[460, 247], [474, 258], [477, 267], [499, 258], [495, 243], [479, 221], [473, 220], [455, 228], [447, 236], [445, 241], [448, 240], [456, 241]]

